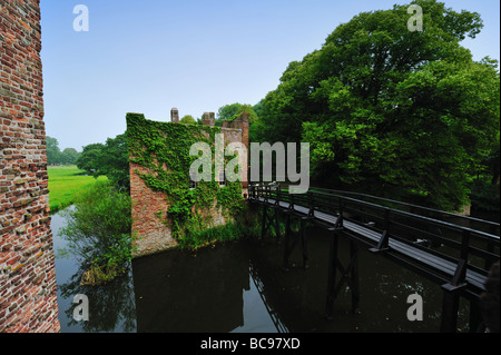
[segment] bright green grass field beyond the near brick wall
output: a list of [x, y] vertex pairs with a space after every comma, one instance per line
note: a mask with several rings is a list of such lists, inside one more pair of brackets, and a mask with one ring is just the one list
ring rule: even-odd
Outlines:
[[[48, 167], [49, 172], [49, 205], [50, 211], [56, 213], [70, 206], [77, 194], [96, 183], [92, 176], [76, 166]], [[98, 180], [106, 180], [101, 176]]]

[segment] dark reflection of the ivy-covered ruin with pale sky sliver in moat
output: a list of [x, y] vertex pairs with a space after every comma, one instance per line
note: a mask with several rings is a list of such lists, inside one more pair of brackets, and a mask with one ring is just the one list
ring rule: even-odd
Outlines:
[[239, 245], [134, 260], [138, 332], [276, 332]]

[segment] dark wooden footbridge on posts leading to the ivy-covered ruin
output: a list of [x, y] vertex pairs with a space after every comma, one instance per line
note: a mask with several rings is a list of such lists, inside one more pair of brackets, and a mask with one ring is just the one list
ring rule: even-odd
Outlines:
[[[328, 260], [326, 315], [344, 284], [352, 292], [356, 312], [358, 292], [358, 247], [367, 247], [397, 265], [438, 283], [443, 289], [441, 332], [455, 332], [460, 297], [470, 300], [470, 331], [482, 329], [479, 297], [490, 267], [500, 258], [500, 224], [459, 216], [370, 195], [311, 188], [306, 194], [288, 194], [278, 185], [248, 187], [248, 200], [262, 208], [262, 235], [273, 228], [281, 236], [285, 219], [284, 268], [301, 241], [304, 267], [308, 267], [305, 223], [315, 223], [332, 233]], [[299, 221], [294, 237], [291, 225]], [[350, 239], [350, 262], [340, 262], [337, 241]], [[341, 279], [336, 283], [337, 270]]]

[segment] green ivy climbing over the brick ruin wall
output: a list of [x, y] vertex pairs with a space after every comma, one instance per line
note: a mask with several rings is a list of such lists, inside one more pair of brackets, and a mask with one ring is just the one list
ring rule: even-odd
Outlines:
[[[145, 119], [141, 114], [127, 114], [127, 139], [130, 161], [146, 168], [148, 174], [138, 174], [146, 186], [161, 191], [169, 204], [168, 210], [156, 211], [157, 217], [170, 226], [173, 236], [180, 246], [196, 247], [217, 237], [212, 209], [220, 208], [225, 218], [236, 217], [244, 208], [239, 181], [219, 186], [215, 180], [213, 159], [210, 181], [199, 181], [190, 188], [189, 167], [197, 157], [189, 156], [195, 142], [206, 142], [215, 157], [215, 135], [220, 127], [157, 122]], [[225, 159], [232, 157], [226, 157]], [[218, 227], [215, 230], [222, 228]], [[224, 234], [224, 233], [223, 233]]]

